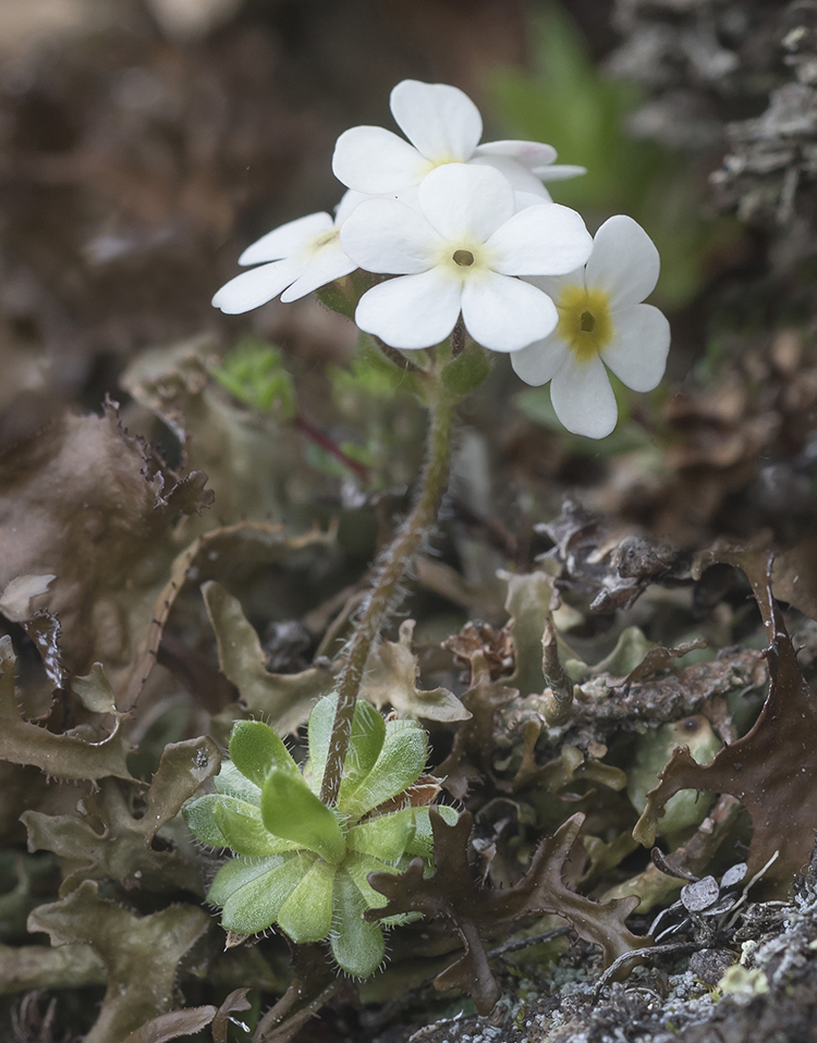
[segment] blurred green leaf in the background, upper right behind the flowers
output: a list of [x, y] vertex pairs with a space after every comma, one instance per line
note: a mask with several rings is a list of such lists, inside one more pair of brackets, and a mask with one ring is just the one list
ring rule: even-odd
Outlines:
[[707, 256], [736, 226], [699, 217], [705, 172], [696, 160], [627, 134], [642, 89], [597, 69], [561, 5], [538, 12], [532, 29], [535, 71], [493, 77], [498, 121], [511, 136], [553, 145], [558, 162], [586, 167], [582, 177], [548, 183], [553, 199], [580, 210], [592, 229], [613, 213], [635, 218], [661, 254], [656, 299], [685, 304], [702, 286]]

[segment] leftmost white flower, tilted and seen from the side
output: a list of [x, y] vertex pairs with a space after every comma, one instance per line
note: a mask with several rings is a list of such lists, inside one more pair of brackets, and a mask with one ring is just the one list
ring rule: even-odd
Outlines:
[[[251, 311], [281, 294], [281, 300], [297, 300], [357, 265], [343, 253], [340, 228], [364, 198], [347, 192], [330, 213], [310, 213], [267, 232], [248, 246], [240, 265], [260, 265], [225, 283], [212, 298], [212, 305], [228, 315]], [[268, 261], [270, 263], [264, 263]], [[282, 292], [283, 291], [283, 292]]]

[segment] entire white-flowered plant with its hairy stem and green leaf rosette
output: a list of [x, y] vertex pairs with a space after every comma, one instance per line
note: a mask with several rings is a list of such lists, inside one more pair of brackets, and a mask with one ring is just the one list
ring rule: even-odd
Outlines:
[[[361, 809], [353, 814], [350, 807], [349, 778], [359, 768], [364, 671], [400, 601], [410, 563], [436, 524], [459, 398], [488, 376], [488, 353], [508, 354], [522, 380], [550, 382], [557, 417], [569, 431], [601, 439], [617, 422], [608, 369], [634, 391], [650, 391], [663, 375], [670, 344], [667, 319], [644, 303], [659, 272], [647, 233], [619, 214], [594, 238], [582, 217], [553, 203], [546, 188], [583, 168], [557, 165], [546, 144], [480, 144], [479, 111], [456, 87], [404, 81], [391, 94], [391, 111], [405, 137], [374, 126], [339, 137], [332, 170], [346, 193], [334, 214], [309, 214], [264, 235], [239, 258], [248, 271], [222, 286], [212, 303], [234, 315], [279, 295], [290, 302], [317, 291], [388, 358], [410, 369], [430, 415], [415, 505], [375, 570], [341, 653], [332, 699], [319, 703], [320, 728], [317, 719], [310, 722], [310, 740], [318, 731], [322, 736], [320, 770], [312, 741], [303, 775], [283, 747], [276, 749], [285, 771], [266, 754], [243, 757], [251, 734], [244, 723], [231, 756], [253, 780], [252, 807], [239, 815], [231, 803], [235, 794], [221, 786], [188, 809], [200, 839], [236, 854], [209, 894], [223, 908], [224, 925], [252, 933], [277, 923], [294, 942], [330, 940], [338, 964], [354, 974], [370, 973], [383, 953], [380, 930], [362, 925], [362, 911], [370, 918], [379, 899], [359, 852], [394, 871], [425, 830], [422, 854], [431, 858], [426, 811], [401, 812], [403, 832], [391, 843], [399, 817], [369, 801], [363, 812], [374, 819], [361, 821]], [[244, 361], [242, 367], [222, 382], [241, 384]], [[369, 719], [378, 735], [386, 734], [374, 710]], [[258, 724], [252, 734], [261, 735], [266, 750], [275, 744], [265, 727]], [[418, 741], [416, 726], [391, 733], [397, 766], [378, 790], [383, 799], [411, 786], [425, 760], [424, 743], [417, 756], [408, 748]], [[382, 774], [376, 761], [373, 771]], [[361, 847], [364, 834], [374, 846]], [[261, 856], [263, 871], [252, 860]], [[291, 896], [290, 884], [279, 886], [294, 886], [301, 876]]]

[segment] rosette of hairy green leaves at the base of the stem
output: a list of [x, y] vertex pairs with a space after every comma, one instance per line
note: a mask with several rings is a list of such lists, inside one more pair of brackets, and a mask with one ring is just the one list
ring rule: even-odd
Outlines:
[[[355, 707], [338, 806], [318, 793], [338, 699], [327, 696], [309, 717], [309, 756], [303, 772], [279, 736], [261, 721], [240, 721], [216, 793], [190, 801], [184, 818], [204, 844], [230, 848], [207, 900], [221, 923], [240, 934], [277, 924], [293, 942], [330, 940], [338, 965], [367, 978], [383, 959], [383, 927], [363, 915], [386, 904], [368, 883], [373, 872], [398, 873], [413, 857], [430, 862], [428, 807], [437, 788], [411, 787], [426, 763], [426, 734], [415, 721], [383, 721], [365, 701]], [[406, 790], [410, 790], [406, 793]], [[449, 824], [453, 808], [437, 809]]]

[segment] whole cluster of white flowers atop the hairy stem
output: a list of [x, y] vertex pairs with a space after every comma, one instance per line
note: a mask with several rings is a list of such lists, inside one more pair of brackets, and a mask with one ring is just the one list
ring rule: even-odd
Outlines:
[[642, 303], [658, 279], [649, 236], [620, 214], [594, 240], [545, 187], [583, 168], [554, 164], [549, 145], [480, 145], [479, 111], [456, 87], [403, 81], [391, 111], [405, 138], [376, 126], [338, 138], [332, 170], [349, 191], [334, 217], [314, 213], [263, 236], [239, 258], [258, 267], [222, 286], [214, 305], [237, 314], [279, 294], [295, 300], [358, 269], [394, 277], [357, 303], [363, 331], [418, 349], [462, 322], [476, 343], [511, 353], [527, 383], [551, 381], [569, 431], [609, 434], [618, 413], [606, 367], [650, 391], [669, 351], [669, 323]]

